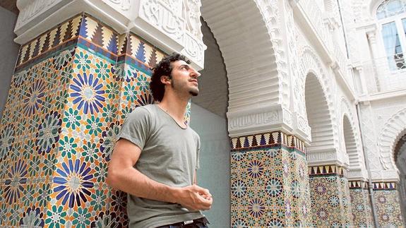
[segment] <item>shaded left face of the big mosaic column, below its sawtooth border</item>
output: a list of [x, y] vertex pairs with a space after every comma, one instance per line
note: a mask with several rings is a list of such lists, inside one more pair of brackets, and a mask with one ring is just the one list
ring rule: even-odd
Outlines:
[[44, 226], [74, 47], [16, 71], [0, 126], [0, 224]]

